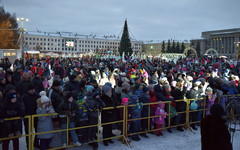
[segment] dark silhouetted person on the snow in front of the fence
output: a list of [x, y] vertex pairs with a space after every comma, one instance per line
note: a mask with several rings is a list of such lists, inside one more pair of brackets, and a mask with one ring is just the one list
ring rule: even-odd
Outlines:
[[231, 136], [220, 104], [210, 108], [211, 115], [201, 120], [202, 150], [232, 150]]

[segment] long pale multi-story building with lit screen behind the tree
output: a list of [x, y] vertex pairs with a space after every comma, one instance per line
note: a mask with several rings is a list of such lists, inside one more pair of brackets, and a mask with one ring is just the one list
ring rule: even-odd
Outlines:
[[[118, 54], [120, 39], [114, 36], [96, 38], [95, 36], [72, 33], [26, 33], [24, 49], [37, 50], [42, 54], [56, 53], [63, 57], [78, 57], [80, 54], [98, 53]], [[134, 53], [142, 52], [141, 41], [131, 41]]]

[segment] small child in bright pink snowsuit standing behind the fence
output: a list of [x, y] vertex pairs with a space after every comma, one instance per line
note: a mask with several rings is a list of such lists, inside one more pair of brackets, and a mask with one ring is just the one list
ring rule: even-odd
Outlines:
[[[162, 102], [162, 101], [159, 101], [159, 102]], [[165, 103], [158, 104], [158, 107], [155, 111], [155, 116], [158, 116], [158, 117], [154, 118], [155, 129], [162, 128], [162, 125], [165, 123], [165, 118], [167, 113], [165, 112], [164, 108], [165, 108]], [[157, 130], [156, 135], [157, 136], [163, 135], [162, 130]]]

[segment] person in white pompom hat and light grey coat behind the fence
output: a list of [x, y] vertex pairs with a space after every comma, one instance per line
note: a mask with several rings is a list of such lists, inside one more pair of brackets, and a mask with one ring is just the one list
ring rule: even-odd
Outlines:
[[[41, 91], [41, 98], [37, 100], [38, 108], [37, 114], [53, 114], [55, 113], [49, 98], [46, 96], [45, 91]], [[53, 122], [51, 116], [38, 117], [37, 132], [49, 132], [53, 131]], [[49, 148], [49, 145], [53, 138], [53, 133], [39, 134], [37, 135], [40, 139], [40, 150], [45, 150]]]

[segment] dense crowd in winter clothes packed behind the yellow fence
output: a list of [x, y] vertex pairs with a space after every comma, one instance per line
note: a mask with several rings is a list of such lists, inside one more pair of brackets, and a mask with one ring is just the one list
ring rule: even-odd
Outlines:
[[[186, 101], [191, 101], [190, 109], [210, 108], [214, 103], [225, 105], [223, 95], [239, 94], [240, 64], [220, 58], [179, 58], [166, 61], [161, 59], [99, 59], [85, 58], [30, 58], [25, 64], [16, 60], [11, 64], [3, 59], [0, 64], [0, 138], [22, 135], [22, 125], [28, 134], [28, 119], [25, 116], [35, 114], [53, 114], [58, 116], [36, 117], [35, 132], [48, 132], [56, 128], [66, 129], [83, 127], [123, 119], [121, 105], [128, 107], [128, 119], [148, 117], [150, 128], [158, 129], [156, 136], [163, 136], [160, 128], [178, 125], [177, 130], [184, 132]], [[206, 98], [206, 105], [203, 100]], [[166, 102], [143, 105], [152, 102]], [[115, 109], [103, 110], [104, 107]], [[100, 116], [97, 110], [100, 110]], [[168, 113], [171, 113], [168, 117]], [[211, 111], [206, 110], [206, 115]], [[69, 119], [67, 119], [67, 116]], [[4, 118], [20, 117], [6, 121]], [[196, 121], [203, 117], [203, 111], [190, 113], [191, 128], [197, 130]], [[170, 119], [170, 121], [168, 120]], [[148, 138], [148, 119], [129, 122], [128, 133], [139, 141], [140, 137]], [[113, 129], [123, 133], [122, 124], [102, 125], [104, 139], [115, 136]], [[171, 128], [167, 129], [172, 133]], [[97, 126], [70, 130], [71, 141], [75, 146], [89, 143], [98, 148]], [[67, 146], [66, 132], [61, 132], [62, 146]], [[34, 146], [41, 150], [50, 146], [53, 133], [35, 136]], [[228, 139], [230, 140], [230, 139]], [[19, 139], [14, 138], [14, 150], [19, 149]], [[8, 150], [10, 140], [2, 141], [2, 149]], [[27, 147], [28, 137], [26, 137]], [[104, 140], [108, 146], [113, 140]]]

